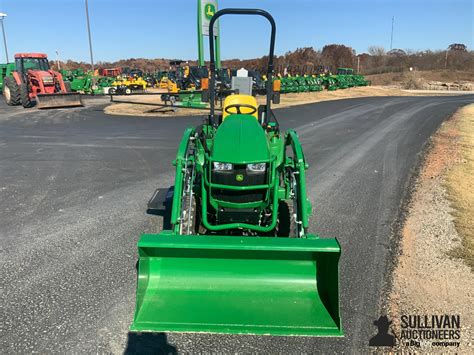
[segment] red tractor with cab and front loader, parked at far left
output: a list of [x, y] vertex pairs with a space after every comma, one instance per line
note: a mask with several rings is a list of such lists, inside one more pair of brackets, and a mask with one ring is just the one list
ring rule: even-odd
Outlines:
[[15, 54], [15, 71], [4, 81], [8, 105], [22, 104], [38, 108], [82, 106], [79, 94], [71, 93], [69, 82], [51, 70], [48, 57], [42, 53]]

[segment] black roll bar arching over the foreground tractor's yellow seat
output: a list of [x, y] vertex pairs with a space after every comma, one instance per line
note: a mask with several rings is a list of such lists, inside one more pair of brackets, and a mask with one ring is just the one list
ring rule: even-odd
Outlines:
[[214, 125], [214, 110], [215, 110], [215, 73], [216, 73], [216, 60], [214, 57], [214, 24], [217, 19], [223, 15], [257, 15], [265, 17], [270, 25], [272, 26], [271, 35], [270, 35], [270, 52], [268, 55], [268, 65], [267, 65], [267, 107], [265, 111], [265, 120], [268, 120], [270, 117], [270, 104], [273, 97], [273, 84], [272, 84], [272, 74], [273, 74], [273, 54], [275, 52], [275, 35], [276, 35], [276, 24], [272, 15], [270, 15], [265, 10], [260, 9], [222, 9], [217, 11], [214, 16], [212, 16], [209, 23], [209, 51], [210, 51], [210, 74], [211, 78], [209, 80], [209, 100], [210, 100], [210, 119], [211, 123]]

